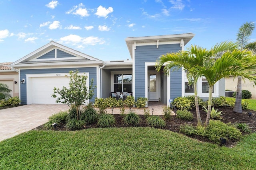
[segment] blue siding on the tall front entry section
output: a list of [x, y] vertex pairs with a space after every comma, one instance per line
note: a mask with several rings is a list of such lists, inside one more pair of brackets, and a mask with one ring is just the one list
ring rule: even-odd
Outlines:
[[[155, 62], [158, 57], [166, 53], [174, 53], [181, 50], [180, 44], [145, 45], [136, 46], [135, 50], [135, 99], [145, 96], [145, 62]], [[181, 73], [180, 73], [181, 75]], [[177, 76], [175, 77], [177, 78]], [[180, 76], [181, 80], [181, 76]], [[179, 81], [178, 81], [179, 82]], [[181, 82], [172, 85], [172, 88], [178, 88], [181, 91]], [[181, 93], [180, 93], [181, 96]]]

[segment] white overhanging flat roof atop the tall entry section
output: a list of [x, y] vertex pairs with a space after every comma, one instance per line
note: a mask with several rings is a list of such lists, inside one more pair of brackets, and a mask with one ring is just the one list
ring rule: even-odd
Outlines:
[[184, 40], [184, 45], [186, 45], [195, 34], [192, 33], [184, 33], [184, 34], [173, 34], [173, 35], [158, 35], [158, 36], [147, 36], [147, 37], [128, 37], [125, 39], [126, 45], [132, 57], [132, 45], [134, 42], [136, 43], [157, 43], [157, 41], [181, 41]]

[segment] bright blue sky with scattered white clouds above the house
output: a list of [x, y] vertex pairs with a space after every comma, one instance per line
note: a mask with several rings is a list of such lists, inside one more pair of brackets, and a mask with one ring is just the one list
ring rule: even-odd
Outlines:
[[236, 41], [255, 8], [255, 0], [0, 0], [0, 63], [51, 40], [103, 61], [131, 59], [127, 37], [194, 33], [185, 49], [209, 49]]

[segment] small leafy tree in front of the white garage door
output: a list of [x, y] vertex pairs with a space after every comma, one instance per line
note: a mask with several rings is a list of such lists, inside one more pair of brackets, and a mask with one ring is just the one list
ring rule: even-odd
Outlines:
[[[89, 89], [86, 86], [86, 80], [88, 76], [85, 74], [78, 74], [78, 70], [70, 71], [70, 82], [69, 88], [63, 86], [62, 90], [54, 87], [53, 98], [57, 98], [56, 103], [62, 104], [73, 104], [76, 106], [76, 117], [77, 120], [80, 119], [80, 109], [79, 107], [85, 103], [86, 100], [91, 99], [94, 95], [94, 89], [96, 86], [92, 86], [93, 79], [90, 81]], [[68, 76], [68, 75], [66, 75]], [[57, 97], [56, 94], [59, 94], [60, 97]]]

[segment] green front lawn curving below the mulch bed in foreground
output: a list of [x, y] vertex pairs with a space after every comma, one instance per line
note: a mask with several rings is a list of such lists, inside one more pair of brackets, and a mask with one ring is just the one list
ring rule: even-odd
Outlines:
[[0, 169], [256, 169], [255, 141], [227, 148], [150, 127], [29, 131], [0, 142]]

